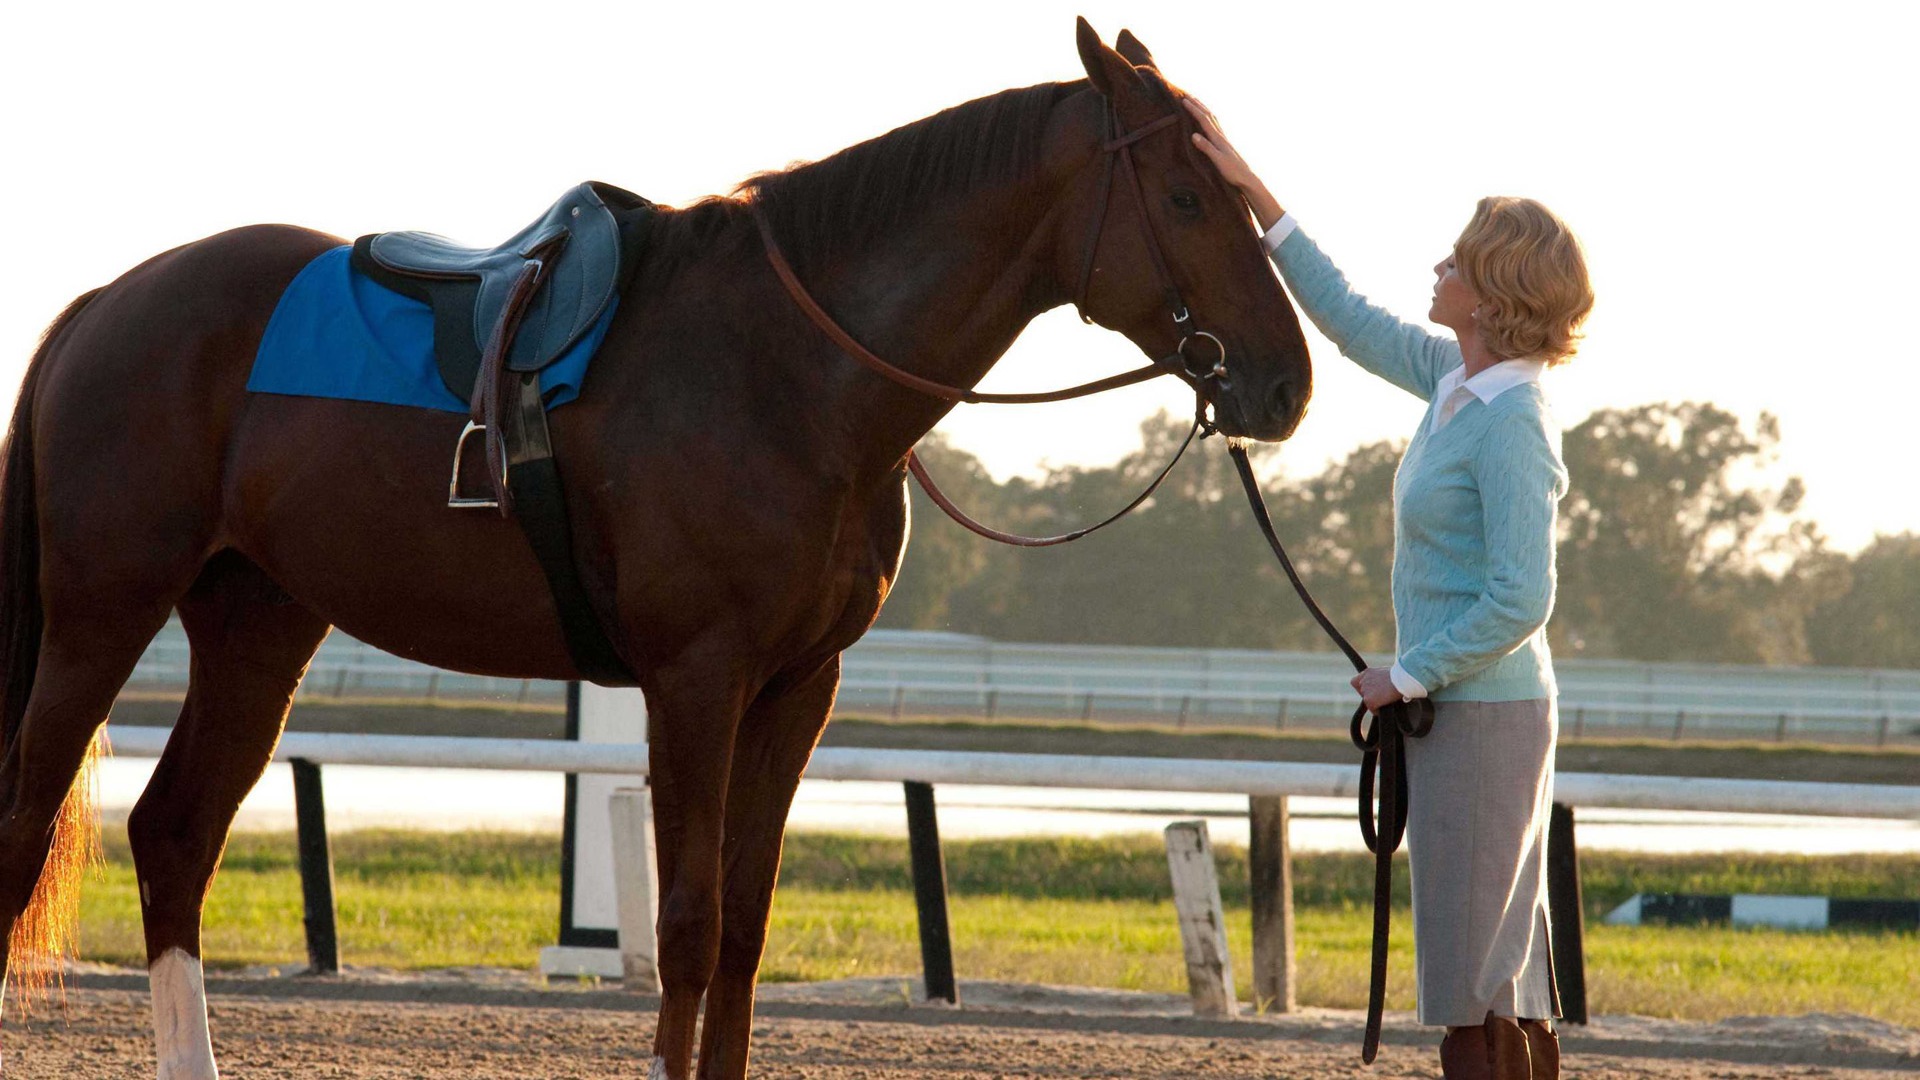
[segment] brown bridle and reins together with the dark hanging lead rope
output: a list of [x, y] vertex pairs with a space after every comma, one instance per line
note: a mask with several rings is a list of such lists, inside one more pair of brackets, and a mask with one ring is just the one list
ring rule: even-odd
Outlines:
[[[1173, 317], [1173, 327], [1179, 331], [1181, 340], [1169, 356], [1164, 356], [1144, 367], [1133, 371], [1123, 371], [1119, 375], [1110, 375], [1094, 382], [1081, 382], [1079, 386], [1068, 386], [1062, 390], [1048, 390], [1041, 394], [981, 394], [964, 386], [947, 386], [943, 382], [933, 382], [931, 379], [922, 379], [910, 371], [902, 371], [885, 359], [874, 356], [866, 346], [856, 342], [852, 334], [839, 327], [831, 315], [828, 315], [820, 304], [806, 292], [801, 279], [787, 265], [785, 256], [780, 254], [780, 244], [774, 240], [774, 227], [766, 219], [766, 211], [760, 204], [753, 204], [753, 217], [760, 227], [760, 238], [766, 242], [766, 258], [774, 265], [774, 273], [780, 282], [787, 286], [787, 294], [793, 302], [806, 311], [806, 317], [814, 321], [820, 331], [833, 340], [847, 356], [860, 361], [870, 371], [899, 382], [910, 390], [918, 390], [931, 398], [943, 402], [966, 402], [966, 404], [1039, 404], [1039, 402], [1064, 402], [1069, 398], [1083, 398], [1087, 394], [1098, 394], [1102, 390], [1114, 390], [1117, 386], [1131, 386], [1135, 382], [1144, 382], [1148, 379], [1158, 379], [1160, 375], [1173, 375], [1192, 386], [1194, 390], [1194, 421], [1187, 429], [1187, 438], [1181, 440], [1179, 450], [1173, 452], [1173, 459], [1167, 461], [1146, 490], [1140, 492], [1133, 502], [1123, 505], [1114, 515], [1089, 525], [1085, 528], [1075, 528], [1073, 532], [1064, 532], [1060, 536], [1016, 536], [1012, 532], [1000, 532], [968, 517], [960, 507], [948, 500], [933, 477], [927, 475], [925, 465], [920, 463], [920, 455], [908, 452], [906, 467], [933, 500], [933, 505], [941, 507], [948, 517], [966, 527], [968, 530], [996, 540], [1000, 544], [1014, 544], [1020, 548], [1048, 548], [1054, 544], [1066, 544], [1069, 540], [1079, 540], [1089, 532], [1106, 528], [1108, 525], [1119, 521], [1135, 507], [1144, 503], [1160, 482], [1173, 473], [1173, 467], [1192, 446], [1194, 434], [1206, 432], [1213, 434], [1213, 423], [1208, 419], [1206, 409], [1210, 404], [1210, 390], [1231, 390], [1233, 382], [1227, 373], [1227, 346], [1221, 344], [1219, 336], [1210, 334], [1194, 325], [1192, 311], [1187, 309], [1187, 302], [1181, 298], [1179, 286], [1173, 282], [1173, 273], [1167, 271], [1165, 256], [1160, 248], [1160, 236], [1154, 233], [1154, 219], [1146, 211], [1146, 192], [1140, 186], [1140, 171], [1133, 161], [1133, 144], [1154, 135], [1156, 131], [1173, 127], [1181, 121], [1181, 113], [1167, 113], [1133, 131], [1119, 131], [1119, 113], [1108, 104], [1106, 110], [1106, 140], [1102, 150], [1106, 154], [1106, 167], [1100, 177], [1100, 198], [1098, 209], [1094, 211], [1092, 229], [1087, 238], [1087, 261], [1081, 269], [1079, 296], [1075, 307], [1083, 323], [1092, 323], [1087, 315], [1087, 298], [1092, 292], [1092, 273], [1094, 261], [1100, 254], [1100, 236], [1106, 229], [1106, 206], [1112, 200], [1114, 173], [1116, 169], [1125, 171], [1127, 190], [1133, 192], [1135, 208], [1140, 213], [1140, 234], [1146, 240], [1146, 252], [1154, 263], [1154, 275], [1160, 281], [1164, 302], [1167, 313]], [[1215, 356], [1212, 363], [1198, 363], [1188, 356], [1188, 344], [1192, 342], [1212, 342]], [[1248, 463], [1246, 448], [1229, 440], [1229, 454], [1233, 455], [1233, 465], [1240, 475], [1240, 484], [1246, 488], [1246, 498], [1254, 507], [1254, 521], [1260, 525], [1261, 534], [1273, 548], [1275, 557], [1281, 561], [1281, 569], [1286, 571], [1286, 580], [1292, 582], [1294, 592], [1308, 605], [1308, 611], [1321, 625], [1329, 638], [1346, 653], [1346, 659], [1354, 665], [1354, 671], [1365, 671], [1367, 661], [1359, 655], [1344, 634], [1332, 625], [1313, 596], [1308, 592], [1306, 582], [1294, 571], [1292, 559], [1286, 557], [1286, 550], [1281, 546], [1279, 534], [1273, 530], [1273, 517], [1267, 513], [1265, 500], [1260, 494], [1260, 480], [1254, 479], [1254, 467]], [[1434, 723], [1434, 705], [1430, 700], [1421, 698], [1417, 701], [1396, 701], [1380, 707], [1373, 713], [1373, 726], [1365, 726], [1367, 707], [1359, 705], [1354, 709], [1354, 719], [1350, 721], [1350, 738], [1354, 746], [1361, 751], [1359, 765], [1359, 834], [1367, 842], [1367, 847], [1375, 855], [1373, 872], [1373, 965], [1371, 965], [1371, 988], [1367, 994], [1367, 1034], [1361, 1042], [1361, 1059], [1369, 1065], [1379, 1053], [1380, 1045], [1380, 1015], [1386, 997], [1386, 944], [1388, 944], [1388, 917], [1392, 911], [1392, 869], [1394, 851], [1400, 847], [1400, 840], [1407, 828], [1407, 773], [1405, 773], [1405, 740], [1425, 736]], [[1375, 784], [1375, 771], [1379, 771], [1379, 784]], [[1375, 792], [1379, 792], [1379, 811], [1373, 807]]]

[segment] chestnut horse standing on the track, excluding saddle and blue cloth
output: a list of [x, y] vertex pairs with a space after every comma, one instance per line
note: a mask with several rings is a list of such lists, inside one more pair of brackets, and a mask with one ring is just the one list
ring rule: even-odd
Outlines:
[[[649, 709], [653, 1076], [691, 1072], [697, 1028], [701, 1076], [747, 1070], [787, 809], [841, 650], [893, 584], [906, 455], [950, 407], [858, 367], [801, 313], [755, 208], [854, 338], [958, 386], [1075, 302], [1083, 267], [1083, 315], [1173, 354], [1158, 244], [1231, 357], [1219, 429], [1286, 438], [1306, 409], [1306, 340], [1244, 206], [1194, 152], [1181, 94], [1119, 44], [1083, 21], [1085, 81], [993, 94], [664, 209], [588, 392], [551, 417], [576, 563]], [[1131, 146], [1144, 200], [1106, 183], [1108, 125], [1169, 115]], [[83, 763], [179, 611], [186, 701], [127, 824], [163, 1078], [215, 1076], [202, 899], [330, 626], [445, 669], [578, 678], [518, 525], [447, 511], [459, 415], [246, 390], [282, 288], [338, 244], [261, 225], [134, 267], [48, 329], [13, 413], [0, 976], [31, 978], [63, 947], [90, 826]]]

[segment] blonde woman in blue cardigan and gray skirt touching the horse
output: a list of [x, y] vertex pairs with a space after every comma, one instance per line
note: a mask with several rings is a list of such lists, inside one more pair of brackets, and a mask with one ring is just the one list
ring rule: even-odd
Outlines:
[[1434, 265], [1427, 317], [1348, 288], [1198, 102], [1194, 144], [1235, 184], [1300, 307], [1340, 352], [1428, 402], [1394, 475], [1398, 659], [1354, 678], [1369, 709], [1432, 698], [1407, 742], [1419, 1020], [1446, 1026], [1448, 1078], [1559, 1076], [1546, 901], [1557, 740], [1553, 517], [1567, 494], [1542, 377], [1594, 306], [1572, 233], [1544, 206], [1484, 198]]

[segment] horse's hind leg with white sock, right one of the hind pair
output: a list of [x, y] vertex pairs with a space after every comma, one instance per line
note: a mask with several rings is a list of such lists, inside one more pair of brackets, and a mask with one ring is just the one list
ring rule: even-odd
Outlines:
[[267, 769], [328, 626], [232, 552], [207, 561], [179, 609], [192, 646], [186, 703], [127, 836], [140, 878], [159, 1080], [211, 1080], [200, 905], [227, 828]]

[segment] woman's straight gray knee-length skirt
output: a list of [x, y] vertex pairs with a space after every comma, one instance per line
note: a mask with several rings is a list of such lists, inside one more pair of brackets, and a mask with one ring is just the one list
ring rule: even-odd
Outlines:
[[1559, 1017], [1548, 928], [1551, 700], [1434, 701], [1407, 740], [1419, 1022]]

